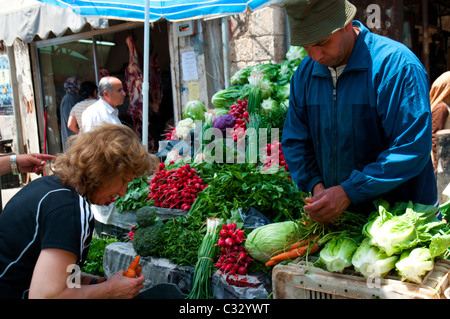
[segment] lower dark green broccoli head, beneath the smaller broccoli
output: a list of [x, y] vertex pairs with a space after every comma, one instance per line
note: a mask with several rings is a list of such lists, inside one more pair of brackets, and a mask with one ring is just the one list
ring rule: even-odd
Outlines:
[[164, 223], [156, 220], [152, 225], [140, 226], [134, 232], [133, 248], [141, 256], [151, 256], [162, 239]]

